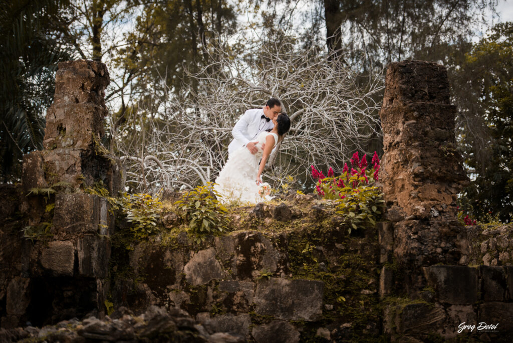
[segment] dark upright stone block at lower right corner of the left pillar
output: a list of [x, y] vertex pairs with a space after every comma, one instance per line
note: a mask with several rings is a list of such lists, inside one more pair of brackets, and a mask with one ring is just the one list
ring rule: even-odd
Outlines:
[[98, 236], [84, 236], [76, 242], [78, 273], [106, 278], [109, 272], [110, 241]]

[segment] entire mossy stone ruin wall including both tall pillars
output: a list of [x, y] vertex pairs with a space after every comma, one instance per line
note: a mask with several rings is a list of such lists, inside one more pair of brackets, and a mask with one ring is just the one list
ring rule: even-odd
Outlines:
[[[332, 309], [322, 296], [325, 285], [289, 274], [293, 262], [287, 255], [286, 235], [239, 232], [209, 241], [200, 251], [189, 246], [185, 236], [165, 249], [140, 244], [129, 256], [133, 279], [112, 284], [108, 237], [116, 228], [108, 203], [82, 192], [102, 181], [116, 194], [122, 184], [119, 162], [101, 145], [108, 82], [101, 63], [60, 64], [55, 100], [47, 113], [45, 150], [24, 157], [21, 189], [3, 186], [3, 194], [21, 199], [2, 207], [3, 218], [23, 212], [31, 225], [48, 220], [48, 214], [42, 197], [25, 197], [30, 188], [66, 181], [75, 193], [52, 199], [53, 237], [48, 243], [22, 240], [18, 228], [2, 227], [0, 238], [9, 244], [1, 252], [1, 261], [8, 262], [0, 266], [1, 327], [35, 318], [37, 307], [54, 321], [77, 315], [76, 311], [96, 309], [101, 315], [110, 293], [141, 310], [151, 304], [186, 308], [198, 320], [208, 319], [257, 341], [270, 339], [277, 331], [284, 332], [285, 341], [298, 341], [304, 327], [297, 321], [319, 326], [319, 335], [332, 340], [350, 332], [347, 322], [334, 330], [322, 327], [319, 320]], [[276, 221], [317, 227], [332, 218], [328, 231], [336, 239], [316, 246], [316, 258], [333, 268], [341, 255], [361, 254], [372, 260], [372, 268], [380, 269], [379, 280], [374, 286], [369, 281], [371, 290], [365, 290], [385, 309], [382, 320], [365, 329], [371, 334], [382, 333], [392, 341], [430, 341], [433, 335], [458, 338], [460, 323], [485, 321], [498, 322], [499, 330], [464, 337], [510, 341], [513, 323], [504, 318], [513, 317], [511, 230], [468, 229], [456, 218], [456, 197], [468, 180], [455, 149], [456, 108], [450, 104], [445, 68], [420, 61], [392, 63], [385, 84], [380, 116], [387, 221], [377, 225], [377, 240], [369, 233], [340, 235], [336, 216], [322, 202], [307, 204], [303, 212], [285, 204], [257, 206], [251, 222], [264, 226], [248, 228], [258, 230]], [[279, 277], [262, 280], [262, 269]], [[147, 278], [152, 273], [157, 276]], [[141, 278], [145, 281], [138, 283], [136, 292], [128, 292], [131, 282]], [[45, 292], [53, 297], [52, 303], [34, 301]], [[276, 306], [276, 294], [290, 302]], [[223, 313], [213, 313], [213, 304]]]

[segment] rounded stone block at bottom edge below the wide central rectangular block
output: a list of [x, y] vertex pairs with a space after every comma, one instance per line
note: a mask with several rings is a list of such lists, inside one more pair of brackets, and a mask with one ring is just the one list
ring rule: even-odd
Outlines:
[[299, 331], [289, 322], [282, 320], [273, 320], [268, 324], [256, 326], [251, 335], [257, 343], [297, 343], [300, 339]]

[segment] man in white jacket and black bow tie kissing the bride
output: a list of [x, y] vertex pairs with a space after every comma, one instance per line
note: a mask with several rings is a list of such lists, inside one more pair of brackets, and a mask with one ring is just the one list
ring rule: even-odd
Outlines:
[[271, 98], [267, 100], [264, 108], [248, 109], [244, 112], [231, 131], [233, 140], [228, 145], [228, 155], [241, 146], [248, 148], [253, 155], [257, 153], [258, 148], [252, 141], [257, 139], [262, 131], [273, 128], [272, 120], [280, 114], [281, 110], [280, 101]]

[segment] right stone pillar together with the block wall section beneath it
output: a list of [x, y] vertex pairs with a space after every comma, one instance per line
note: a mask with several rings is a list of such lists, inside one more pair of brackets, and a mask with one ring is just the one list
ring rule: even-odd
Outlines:
[[[497, 232], [457, 220], [457, 195], [468, 178], [455, 146], [456, 111], [443, 66], [423, 61], [388, 66], [380, 110], [388, 219], [380, 230], [380, 296], [413, 302], [388, 306], [384, 330], [391, 337], [421, 340], [430, 332], [445, 339], [509, 341], [513, 267], [504, 249], [513, 244], [511, 228], [503, 228], [497, 240]], [[465, 336], [468, 330], [457, 333], [463, 322], [499, 323], [499, 328]]]

